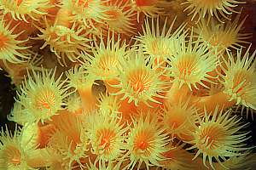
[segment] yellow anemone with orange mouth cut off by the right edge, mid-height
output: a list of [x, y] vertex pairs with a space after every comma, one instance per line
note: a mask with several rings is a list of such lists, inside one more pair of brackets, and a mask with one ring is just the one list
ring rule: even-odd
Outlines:
[[224, 85], [224, 93], [230, 95], [230, 100], [236, 99], [236, 105], [256, 109], [256, 62], [255, 54], [249, 54], [249, 49], [242, 54], [237, 50], [236, 57], [227, 53], [228, 59], [224, 59], [224, 74], [219, 74]]

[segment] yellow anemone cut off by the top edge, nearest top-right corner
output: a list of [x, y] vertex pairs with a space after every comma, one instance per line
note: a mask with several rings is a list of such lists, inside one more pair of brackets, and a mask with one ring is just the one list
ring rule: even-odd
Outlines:
[[205, 17], [210, 20], [212, 16], [215, 16], [218, 21], [223, 22], [222, 18], [230, 20], [228, 15], [238, 13], [233, 8], [241, 3], [245, 2], [241, 0], [186, 0], [183, 4], [187, 6], [184, 11], [189, 10], [189, 15], [192, 14], [191, 20], [194, 20], [196, 16], [197, 21]]

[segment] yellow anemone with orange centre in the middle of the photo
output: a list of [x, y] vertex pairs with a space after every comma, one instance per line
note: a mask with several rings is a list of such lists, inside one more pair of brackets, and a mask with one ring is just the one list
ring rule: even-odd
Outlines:
[[121, 100], [128, 99], [129, 104], [161, 104], [160, 99], [164, 96], [160, 93], [166, 92], [167, 82], [160, 79], [162, 71], [151, 68], [148, 62], [150, 61], [145, 59], [142, 50], [136, 52], [131, 49], [128, 59], [122, 59], [120, 62], [119, 83], [112, 85], [119, 90], [113, 95], [120, 95]]

